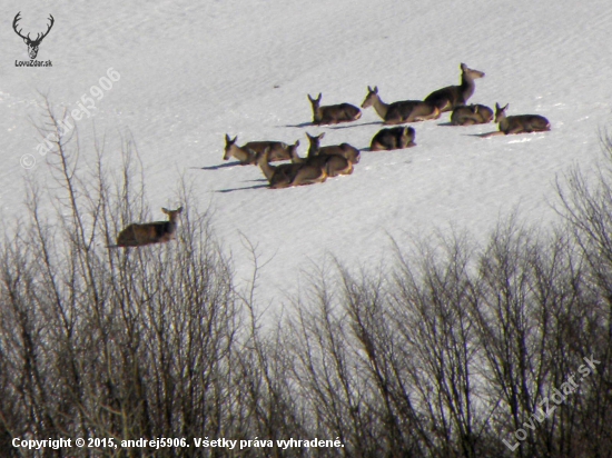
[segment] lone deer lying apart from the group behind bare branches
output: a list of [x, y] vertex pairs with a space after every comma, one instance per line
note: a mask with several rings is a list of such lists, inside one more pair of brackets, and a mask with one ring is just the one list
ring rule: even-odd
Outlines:
[[168, 215], [168, 221], [131, 223], [119, 232], [117, 245], [110, 245], [108, 248], [144, 247], [172, 240], [177, 229], [177, 218], [182, 212], [182, 207], [176, 210], [162, 208], [161, 211]]

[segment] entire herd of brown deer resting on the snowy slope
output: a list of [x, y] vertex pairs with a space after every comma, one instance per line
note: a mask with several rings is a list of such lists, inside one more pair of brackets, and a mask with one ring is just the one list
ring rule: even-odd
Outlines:
[[[539, 114], [506, 116], [507, 104], [495, 103], [495, 113], [483, 104], [470, 104], [467, 100], [475, 90], [474, 80], [483, 78], [484, 73], [461, 64], [461, 84], [448, 86], [430, 93], [424, 100], [403, 100], [385, 103], [378, 94], [378, 88], [367, 87], [367, 94], [362, 108], [373, 107], [383, 119], [385, 126], [371, 142], [371, 151], [395, 150], [416, 146], [415, 130], [412, 127], [398, 126], [411, 122], [438, 119], [443, 112], [451, 111], [452, 126], [472, 126], [488, 123], [495, 116], [499, 131], [481, 135], [487, 138], [511, 133], [542, 132], [551, 129], [549, 120]], [[308, 100], [313, 107], [313, 125], [328, 126], [340, 122], [354, 122], [362, 117], [362, 110], [351, 103], [322, 106], [322, 94]], [[353, 173], [354, 166], [359, 162], [361, 151], [348, 145], [319, 145], [325, 133], [310, 136], [306, 133], [309, 148], [306, 157], [299, 157], [297, 148], [299, 140], [293, 145], [282, 141], [249, 141], [243, 146], [236, 142], [237, 137], [225, 136], [224, 160], [234, 157], [243, 166], [259, 166], [270, 188], [289, 188], [313, 185], [325, 181], [329, 177]], [[270, 162], [289, 161], [273, 166]], [[168, 221], [157, 221], [142, 225], [130, 225], [117, 238], [117, 245], [111, 247], [137, 247], [171, 240], [175, 237], [176, 219], [182, 209], [167, 210]]]

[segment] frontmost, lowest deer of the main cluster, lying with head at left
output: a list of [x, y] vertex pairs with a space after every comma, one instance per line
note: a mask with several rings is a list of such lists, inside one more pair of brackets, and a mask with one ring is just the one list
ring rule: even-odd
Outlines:
[[[266, 148], [258, 158], [258, 165], [272, 189], [290, 188], [294, 186], [314, 185], [324, 182], [327, 173], [318, 165], [309, 163], [282, 163], [270, 166], [268, 157], [270, 149]], [[294, 152], [296, 155], [296, 152]]]

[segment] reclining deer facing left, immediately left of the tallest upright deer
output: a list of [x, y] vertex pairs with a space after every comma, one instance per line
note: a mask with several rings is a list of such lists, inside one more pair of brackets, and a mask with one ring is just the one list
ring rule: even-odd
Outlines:
[[434, 103], [422, 100], [403, 100], [385, 103], [378, 96], [378, 87], [367, 87], [367, 96], [362, 108], [374, 107], [374, 110], [383, 118], [384, 125], [404, 125], [407, 122], [426, 121], [440, 118], [440, 110]]

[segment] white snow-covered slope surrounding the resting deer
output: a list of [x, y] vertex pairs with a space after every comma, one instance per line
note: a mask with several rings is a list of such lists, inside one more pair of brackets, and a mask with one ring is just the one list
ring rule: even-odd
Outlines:
[[[37, 58], [51, 59], [51, 68], [16, 67], [28, 60], [11, 27], [18, 11], [32, 34], [53, 14]], [[610, 122], [609, 0], [28, 0], [3, 2], [0, 13], [1, 217], [24, 211], [26, 178], [45, 182], [51, 173], [30, 120], [43, 120], [39, 91], [73, 109], [112, 67], [120, 80], [77, 123], [91, 151], [82, 167], [95, 159], [93, 122], [111, 146], [129, 129], [156, 216], [181, 203], [181, 176], [193, 180], [238, 278], [253, 269], [240, 235], [269, 259], [260, 271], [264, 302], [296, 291], [303, 269], [329, 253], [375, 267], [393, 253], [392, 237], [402, 247], [455, 227], [478, 238], [516, 208], [533, 223], [554, 221], [556, 177], [593, 163]], [[461, 62], [486, 73], [470, 102], [543, 114], [552, 131], [483, 139], [475, 135], [497, 127], [451, 127], [444, 113], [412, 125], [417, 147], [371, 152], [383, 127], [372, 108], [354, 123], [309, 125], [308, 93], [323, 92], [323, 104], [359, 106], [369, 84], [387, 102], [423, 99], [458, 84]], [[305, 132], [364, 150], [354, 173], [270, 190], [257, 167], [221, 159], [226, 133], [239, 145], [299, 139], [304, 156]], [[20, 166], [27, 153], [37, 161], [30, 170]], [[119, 149], [107, 148], [105, 162], [119, 166]]]

